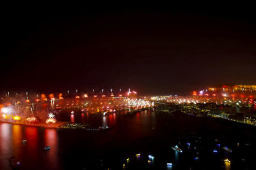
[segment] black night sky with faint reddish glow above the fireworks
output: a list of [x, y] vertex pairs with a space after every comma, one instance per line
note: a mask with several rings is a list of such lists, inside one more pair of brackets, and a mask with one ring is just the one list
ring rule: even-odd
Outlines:
[[2, 90], [256, 84], [252, 4], [33, 5], [1, 11]]

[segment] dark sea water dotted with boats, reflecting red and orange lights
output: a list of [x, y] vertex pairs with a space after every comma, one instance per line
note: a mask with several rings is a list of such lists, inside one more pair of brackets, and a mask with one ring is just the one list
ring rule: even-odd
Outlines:
[[[0, 123], [0, 169], [12, 169], [8, 162], [12, 156], [15, 156], [12, 162], [20, 161], [20, 169], [123, 169], [127, 158], [130, 161], [125, 163], [125, 169], [255, 169], [256, 129], [248, 125], [150, 110], [106, 117], [60, 114], [58, 120], [110, 125], [113, 129], [91, 132]], [[212, 153], [216, 138], [234, 152]], [[22, 139], [27, 139], [27, 143], [23, 144]], [[191, 148], [200, 148], [200, 155], [191, 148], [186, 149], [187, 142]], [[236, 148], [237, 142], [241, 147]], [[171, 149], [176, 144], [184, 153]], [[44, 150], [47, 145], [51, 146], [49, 151]], [[141, 156], [136, 157], [136, 153]], [[155, 157], [150, 164], [149, 154]], [[195, 157], [200, 160], [194, 160]], [[223, 162], [226, 158], [232, 160], [231, 164]], [[167, 162], [172, 162], [173, 167], [166, 167]]]

